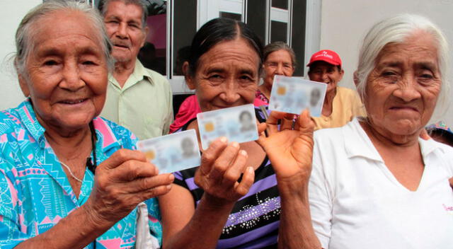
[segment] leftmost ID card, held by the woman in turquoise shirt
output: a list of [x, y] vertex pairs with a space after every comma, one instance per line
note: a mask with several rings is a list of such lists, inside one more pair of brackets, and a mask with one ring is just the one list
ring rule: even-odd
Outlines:
[[138, 141], [137, 149], [159, 168], [159, 173], [200, 166], [200, 149], [195, 129]]

